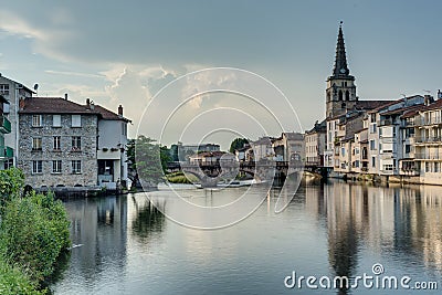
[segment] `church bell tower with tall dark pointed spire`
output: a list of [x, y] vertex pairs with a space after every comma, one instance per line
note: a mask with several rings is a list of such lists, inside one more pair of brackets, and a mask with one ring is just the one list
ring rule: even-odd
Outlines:
[[332, 76], [327, 78], [326, 117], [344, 115], [357, 103], [355, 77], [350, 75], [343, 34], [343, 22], [339, 25], [338, 42], [336, 45], [335, 66]]

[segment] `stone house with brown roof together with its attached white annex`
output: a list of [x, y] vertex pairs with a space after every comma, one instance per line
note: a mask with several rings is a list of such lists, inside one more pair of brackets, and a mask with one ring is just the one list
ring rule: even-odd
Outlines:
[[[114, 183], [113, 188], [118, 179], [126, 180], [127, 119], [123, 118], [123, 109], [119, 116], [88, 101], [86, 105], [70, 102], [66, 95], [21, 99], [19, 115], [18, 167], [27, 185], [96, 187], [99, 167], [104, 167], [101, 175], [109, 177], [107, 183]], [[102, 150], [103, 146], [109, 150]], [[97, 148], [105, 165], [97, 161]]]

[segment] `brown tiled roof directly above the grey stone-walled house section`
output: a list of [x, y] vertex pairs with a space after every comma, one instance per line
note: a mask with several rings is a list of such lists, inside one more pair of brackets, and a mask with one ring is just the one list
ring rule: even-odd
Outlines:
[[99, 115], [84, 105], [61, 97], [29, 97], [24, 106], [20, 107], [21, 114], [92, 114]]

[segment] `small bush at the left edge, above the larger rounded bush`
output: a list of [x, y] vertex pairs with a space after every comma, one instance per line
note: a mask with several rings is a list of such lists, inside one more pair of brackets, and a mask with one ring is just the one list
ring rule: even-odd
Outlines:
[[18, 168], [10, 168], [0, 171], [0, 206], [1, 212], [4, 204], [21, 196], [24, 186], [24, 175]]

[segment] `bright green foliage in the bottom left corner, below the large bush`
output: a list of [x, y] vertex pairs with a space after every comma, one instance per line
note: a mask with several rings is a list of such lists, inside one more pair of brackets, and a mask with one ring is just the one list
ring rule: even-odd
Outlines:
[[36, 284], [25, 276], [18, 267], [10, 266], [0, 256], [0, 294], [3, 295], [41, 295], [46, 291], [36, 291]]

